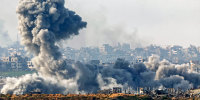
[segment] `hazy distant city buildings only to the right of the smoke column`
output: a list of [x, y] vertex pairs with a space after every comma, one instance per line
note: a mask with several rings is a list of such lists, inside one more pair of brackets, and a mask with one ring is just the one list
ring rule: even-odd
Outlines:
[[75, 61], [88, 62], [100, 60], [101, 62], [114, 62], [117, 58], [124, 58], [129, 62], [135, 62], [138, 58], [148, 58], [152, 54], [160, 56], [160, 60], [166, 59], [174, 64], [183, 64], [192, 61], [200, 61], [200, 47], [181, 46], [160, 47], [150, 45], [144, 48], [131, 49], [130, 44], [118, 44], [111, 46], [104, 44], [100, 47], [83, 47], [74, 49], [67, 47], [62, 49], [63, 56]]

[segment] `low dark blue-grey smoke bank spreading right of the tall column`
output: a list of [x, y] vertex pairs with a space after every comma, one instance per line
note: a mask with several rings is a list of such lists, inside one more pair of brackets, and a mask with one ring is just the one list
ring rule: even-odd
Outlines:
[[82, 73], [78, 80], [78, 84], [81, 84], [79, 88], [87, 92], [113, 86], [121, 86], [124, 89], [131, 87], [135, 90], [137, 87], [187, 90], [197, 88], [200, 84], [200, 74], [192, 72], [188, 64], [174, 65], [167, 60], [160, 61], [155, 55], [149, 57], [149, 61], [144, 64], [132, 65], [124, 59], [117, 59], [114, 65], [108, 67], [80, 63], [76, 66]]

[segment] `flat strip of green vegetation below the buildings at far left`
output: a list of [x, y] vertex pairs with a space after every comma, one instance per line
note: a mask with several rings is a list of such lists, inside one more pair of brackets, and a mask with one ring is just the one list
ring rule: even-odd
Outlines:
[[35, 71], [7, 71], [0, 72], [1, 77], [19, 77], [25, 74], [35, 73]]

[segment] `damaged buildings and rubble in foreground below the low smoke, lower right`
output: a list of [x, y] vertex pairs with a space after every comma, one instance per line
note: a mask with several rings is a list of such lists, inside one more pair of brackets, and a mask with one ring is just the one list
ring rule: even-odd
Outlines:
[[183, 91], [180, 88], [163, 88], [163, 89], [151, 89], [151, 88], [137, 88], [137, 91], [133, 89], [125, 89], [122, 87], [113, 87], [113, 89], [99, 90], [99, 94], [113, 94], [113, 93], [125, 93], [125, 94], [135, 94], [135, 95], [149, 95], [153, 98], [159, 97], [200, 97], [200, 88], [190, 89]]

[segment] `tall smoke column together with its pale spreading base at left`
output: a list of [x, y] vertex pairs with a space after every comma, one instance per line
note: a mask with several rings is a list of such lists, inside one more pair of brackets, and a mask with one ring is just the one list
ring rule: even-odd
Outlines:
[[87, 23], [64, 7], [64, 0], [20, 0], [17, 8], [21, 43], [29, 53], [37, 74], [7, 78], [1, 93], [23, 94], [34, 89], [43, 93], [77, 93], [75, 67], [62, 60], [56, 42], [78, 35]]

